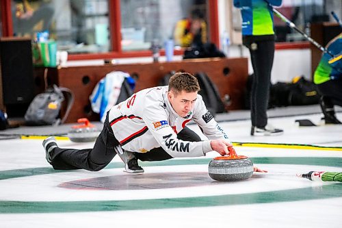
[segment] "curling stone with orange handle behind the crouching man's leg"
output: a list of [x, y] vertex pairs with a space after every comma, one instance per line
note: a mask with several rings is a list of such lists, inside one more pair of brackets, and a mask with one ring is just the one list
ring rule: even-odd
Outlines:
[[96, 129], [95, 125], [92, 125], [88, 118], [79, 118], [77, 123], [83, 123], [83, 125], [73, 125], [68, 132], [68, 138], [73, 142], [93, 142], [96, 140], [100, 131]]

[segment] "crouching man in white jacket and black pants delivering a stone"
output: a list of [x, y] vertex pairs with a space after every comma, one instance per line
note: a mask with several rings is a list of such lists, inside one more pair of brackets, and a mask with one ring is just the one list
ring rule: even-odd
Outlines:
[[[92, 149], [62, 149], [55, 139], [43, 141], [46, 158], [55, 169], [101, 170], [118, 153], [127, 173], [143, 173], [137, 163], [172, 157], [228, 155], [231, 143], [207, 111], [196, 77], [176, 73], [169, 86], [147, 88], [107, 112], [103, 130]], [[201, 141], [185, 125], [195, 121], [209, 140]]]

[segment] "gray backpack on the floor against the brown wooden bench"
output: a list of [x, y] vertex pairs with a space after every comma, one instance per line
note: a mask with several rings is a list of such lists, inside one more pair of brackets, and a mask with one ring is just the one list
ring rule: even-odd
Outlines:
[[[58, 118], [64, 94], [67, 96], [66, 113], [62, 121]], [[29, 108], [25, 114], [27, 125], [59, 125], [64, 123], [74, 102], [73, 92], [68, 88], [58, 87], [53, 85], [47, 91], [40, 93], [34, 97], [34, 100], [29, 104]]]

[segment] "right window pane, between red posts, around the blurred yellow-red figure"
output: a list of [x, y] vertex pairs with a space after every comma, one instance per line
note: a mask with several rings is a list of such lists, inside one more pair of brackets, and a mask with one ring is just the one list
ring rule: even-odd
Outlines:
[[[179, 39], [174, 33], [181, 29], [182, 36], [190, 31], [190, 23], [187, 21], [192, 17], [200, 18], [203, 23], [201, 34], [203, 42], [207, 42], [207, 1], [192, 0], [121, 0], [121, 37], [122, 51], [146, 50], [151, 42], [162, 46], [163, 42], [176, 38], [175, 45], [182, 45], [177, 42]], [[182, 21], [183, 22], [180, 22]], [[180, 26], [177, 26], [180, 25]], [[189, 27], [189, 28], [188, 28]]]

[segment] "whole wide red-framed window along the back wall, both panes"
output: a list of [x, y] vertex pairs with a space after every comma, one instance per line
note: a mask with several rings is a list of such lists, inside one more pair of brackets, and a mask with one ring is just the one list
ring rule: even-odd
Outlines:
[[4, 0], [0, 5], [10, 9], [3, 16], [4, 36], [36, 40], [48, 31], [70, 60], [150, 55], [151, 43], [163, 47], [174, 38], [176, 23], [194, 10], [205, 23], [203, 39], [219, 40], [217, 0]]

